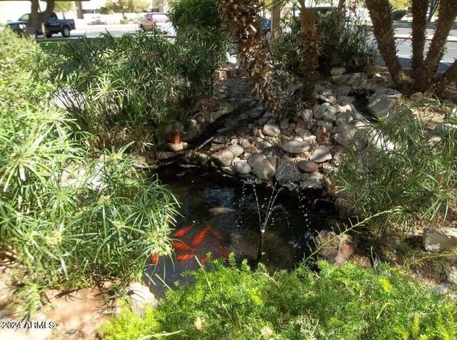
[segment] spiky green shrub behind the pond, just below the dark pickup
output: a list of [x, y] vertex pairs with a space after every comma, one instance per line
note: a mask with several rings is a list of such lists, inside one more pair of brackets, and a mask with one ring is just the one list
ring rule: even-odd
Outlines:
[[161, 128], [185, 123], [209, 96], [216, 59], [204, 42], [161, 34], [81, 38], [51, 53], [51, 79], [66, 110], [96, 148], [136, 141], [146, 150]]

